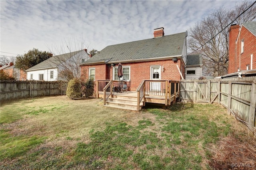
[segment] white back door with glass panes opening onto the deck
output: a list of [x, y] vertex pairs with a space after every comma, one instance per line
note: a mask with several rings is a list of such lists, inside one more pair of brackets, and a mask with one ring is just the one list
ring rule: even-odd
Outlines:
[[[151, 66], [151, 80], [161, 80], [160, 66]], [[151, 82], [150, 89], [154, 91], [160, 91], [161, 82]]]

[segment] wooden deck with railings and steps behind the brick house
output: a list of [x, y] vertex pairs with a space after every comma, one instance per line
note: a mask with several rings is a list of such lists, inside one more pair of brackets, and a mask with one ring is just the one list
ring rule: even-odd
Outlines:
[[145, 103], [170, 106], [179, 98], [179, 82], [172, 80], [142, 80], [136, 91], [116, 92], [112, 80], [97, 80], [96, 96], [104, 106], [140, 111]]

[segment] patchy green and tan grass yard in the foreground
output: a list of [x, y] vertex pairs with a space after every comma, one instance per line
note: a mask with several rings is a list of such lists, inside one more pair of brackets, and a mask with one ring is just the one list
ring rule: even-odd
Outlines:
[[219, 105], [148, 106], [133, 112], [103, 107], [100, 99], [57, 96], [1, 102], [0, 111], [3, 170], [256, 166], [255, 137]]

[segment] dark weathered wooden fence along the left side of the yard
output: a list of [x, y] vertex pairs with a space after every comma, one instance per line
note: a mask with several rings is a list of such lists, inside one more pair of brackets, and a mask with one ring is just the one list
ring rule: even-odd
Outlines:
[[0, 100], [66, 94], [63, 81], [0, 81]]

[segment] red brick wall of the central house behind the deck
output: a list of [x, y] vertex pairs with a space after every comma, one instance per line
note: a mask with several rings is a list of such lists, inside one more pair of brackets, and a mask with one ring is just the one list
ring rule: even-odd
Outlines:
[[[122, 66], [130, 66], [130, 79], [132, 91], [136, 90], [142, 80], [150, 80], [150, 66], [164, 66], [164, 72], [161, 70], [161, 80], [180, 80], [181, 76], [178, 72], [177, 65], [181, 70], [181, 64], [183, 65], [182, 74], [185, 78], [185, 67], [181, 60], [174, 62], [172, 60], [161, 61], [147, 61], [138, 63], [122, 63]], [[117, 64], [116, 64], [117, 65]], [[88, 78], [89, 68], [95, 68], [96, 80], [112, 80], [113, 79], [113, 67], [107, 64], [93, 65], [93, 66], [81, 66], [81, 79]], [[84, 74], [85, 73], [85, 74]]]

